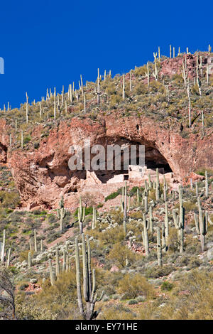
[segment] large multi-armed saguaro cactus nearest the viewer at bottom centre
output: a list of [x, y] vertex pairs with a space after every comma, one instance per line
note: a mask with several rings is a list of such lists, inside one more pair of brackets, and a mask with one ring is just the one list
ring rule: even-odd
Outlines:
[[91, 270], [91, 250], [89, 237], [87, 236], [87, 246], [82, 233], [82, 265], [83, 265], [83, 296], [86, 302], [86, 308], [82, 302], [82, 288], [80, 283], [80, 252], [77, 237], [75, 238], [75, 264], [76, 264], [76, 282], [77, 282], [77, 301], [80, 309], [80, 314], [85, 320], [97, 318], [98, 312], [94, 311], [94, 306], [97, 301], [100, 301], [104, 296], [104, 291], [100, 298], [97, 298], [95, 270]]

